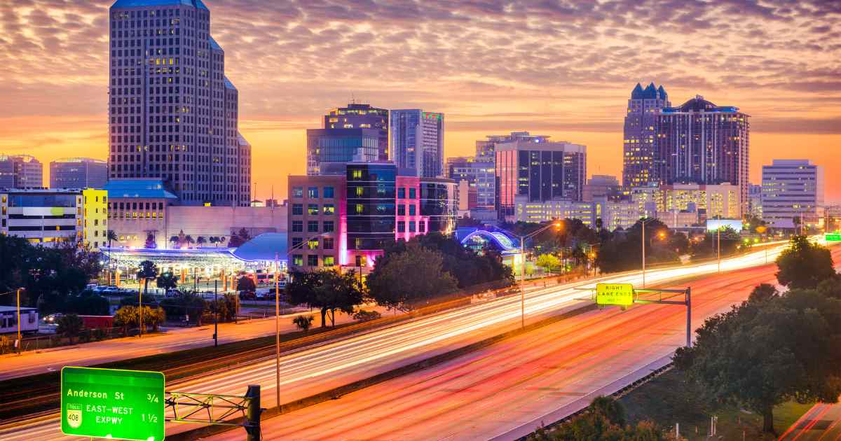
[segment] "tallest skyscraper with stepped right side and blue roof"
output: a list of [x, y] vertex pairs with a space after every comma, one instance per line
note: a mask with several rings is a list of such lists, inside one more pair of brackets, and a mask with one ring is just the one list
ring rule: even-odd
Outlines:
[[109, 13], [109, 178], [161, 178], [184, 205], [247, 206], [251, 148], [201, 0], [117, 0]]

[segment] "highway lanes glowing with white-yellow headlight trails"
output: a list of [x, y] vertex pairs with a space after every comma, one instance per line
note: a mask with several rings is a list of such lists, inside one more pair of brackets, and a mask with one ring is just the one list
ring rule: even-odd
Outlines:
[[[764, 265], [766, 261], [773, 261], [780, 249], [782, 248], [770, 250], [767, 256], [764, 251], [757, 251], [723, 260], [722, 270], [743, 270]], [[717, 263], [710, 262], [649, 270], [646, 279], [648, 285], [653, 286], [716, 272]], [[638, 271], [606, 276], [604, 280], [641, 285], [641, 275]], [[532, 291], [526, 297], [526, 316], [532, 321], [550, 313], [580, 307], [587, 302], [579, 300], [584, 294], [575, 288], [592, 286], [595, 286], [595, 281]], [[281, 401], [289, 402], [329, 390], [517, 328], [519, 318], [519, 297], [504, 297], [284, 355], [281, 359], [279, 385]], [[576, 332], [586, 332], [585, 329], [586, 326], [576, 328]], [[670, 344], [668, 351], [674, 349], [674, 346], [675, 344]], [[272, 407], [276, 404], [274, 375], [274, 360], [265, 360], [246, 367], [209, 374], [198, 381], [171, 384], [167, 386], [167, 390], [240, 395], [245, 392], [246, 385], [260, 384], [263, 391], [263, 407]], [[188, 424], [169, 424], [167, 433], [181, 432], [190, 427]], [[14, 428], [0, 428], [0, 438], [32, 441], [62, 437], [56, 414]]]

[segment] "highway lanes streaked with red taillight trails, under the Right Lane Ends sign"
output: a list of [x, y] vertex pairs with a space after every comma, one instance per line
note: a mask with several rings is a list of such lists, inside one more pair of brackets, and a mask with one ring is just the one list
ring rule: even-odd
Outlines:
[[[710, 276], [692, 285], [693, 323], [774, 282], [775, 265]], [[673, 286], [678, 287], [678, 286]], [[636, 305], [539, 328], [434, 368], [262, 423], [263, 439], [513, 439], [585, 407], [668, 363], [685, 344], [686, 309]], [[630, 372], [638, 376], [625, 378]], [[615, 383], [611, 390], [606, 386]], [[574, 406], [579, 403], [579, 406]], [[565, 414], [545, 417], [558, 409]], [[521, 428], [517, 431], [517, 428]], [[513, 432], [512, 432], [513, 430]], [[241, 439], [233, 431], [211, 439]]]

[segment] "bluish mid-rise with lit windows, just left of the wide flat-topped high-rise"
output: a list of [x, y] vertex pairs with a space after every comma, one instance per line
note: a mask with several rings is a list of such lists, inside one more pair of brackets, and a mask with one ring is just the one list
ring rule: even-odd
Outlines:
[[485, 156], [457, 156], [447, 158], [447, 178], [456, 181], [467, 181], [468, 207], [466, 210], [476, 208], [494, 207], [496, 192], [496, 173], [494, 160]]

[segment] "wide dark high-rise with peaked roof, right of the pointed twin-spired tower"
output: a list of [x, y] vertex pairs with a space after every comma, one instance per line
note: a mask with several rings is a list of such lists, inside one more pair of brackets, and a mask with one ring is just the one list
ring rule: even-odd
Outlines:
[[667, 184], [739, 187], [740, 214], [748, 203], [749, 115], [733, 106], [717, 106], [697, 95], [659, 112], [656, 151]]

